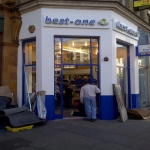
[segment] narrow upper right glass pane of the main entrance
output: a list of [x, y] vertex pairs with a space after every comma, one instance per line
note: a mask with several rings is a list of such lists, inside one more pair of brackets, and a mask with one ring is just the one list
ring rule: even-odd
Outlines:
[[92, 63], [98, 64], [98, 40], [92, 39]]

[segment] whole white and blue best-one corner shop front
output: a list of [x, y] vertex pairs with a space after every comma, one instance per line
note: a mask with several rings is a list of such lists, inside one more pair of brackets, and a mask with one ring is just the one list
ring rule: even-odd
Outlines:
[[135, 47], [139, 32], [135, 24], [109, 10], [41, 8], [22, 14], [22, 20], [19, 106], [36, 83], [36, 91], [46, 91], [47, 119], [70, 118], [65, 86], [69, 83], [73, 88], [71, 109], [76, 109], [83, 81], [89, 80], [101, 89], [96, 97], [99, 119], [118, 117], [112, 84], [121, 85], [127, 109], [138, 107]]

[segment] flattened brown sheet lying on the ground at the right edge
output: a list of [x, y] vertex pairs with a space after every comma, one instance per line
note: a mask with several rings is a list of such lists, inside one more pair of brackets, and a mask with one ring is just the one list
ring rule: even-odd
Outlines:
[[150, 118], [150, 110], [143, 109], [132, 109], [128, 110], [128, 115], [137, 119], [149, 119]]

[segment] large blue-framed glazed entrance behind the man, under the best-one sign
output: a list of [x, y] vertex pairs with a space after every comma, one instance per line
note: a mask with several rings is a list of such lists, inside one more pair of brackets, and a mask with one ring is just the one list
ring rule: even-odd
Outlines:
[[[98, 38], [55, 37], [55, 119], [71, 116], [80, 103], [84, 80], [99, 87]], [[70, 90], [70, 99], [68, 92]], [[99, 109], [99, 98], [97, 98]]]

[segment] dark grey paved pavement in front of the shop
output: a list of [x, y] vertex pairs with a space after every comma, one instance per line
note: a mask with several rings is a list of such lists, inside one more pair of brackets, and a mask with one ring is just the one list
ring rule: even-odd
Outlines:
[[[16, 142], [18, 141], [18, 143]], [[0, 150], [149, 150], [150, 120], [64, 119], [31, 130], [0, 132]]]

